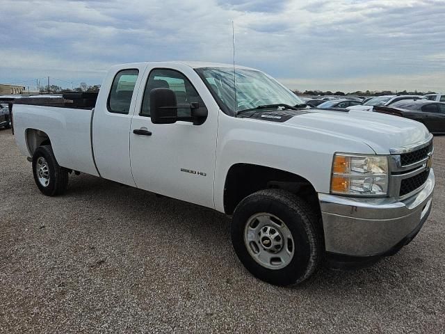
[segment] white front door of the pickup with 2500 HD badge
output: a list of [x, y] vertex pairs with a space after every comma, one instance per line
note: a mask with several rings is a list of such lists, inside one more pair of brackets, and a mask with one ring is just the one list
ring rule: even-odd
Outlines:
[[[172, 67], [171, 64], [168, 67]], [[138, 188], [213, 208], [219, 109], [191, 67], [177, 67], [177, 70], [147, 68], [145, 73], [131, 122], [130, 156], [133, 179]], [[190, 81], [187, 78], [190, 78]], [[204, 102], [209, 111], [207, 120], [202, 125], [183, 121], [174, 124], [153, 124], [149, 118], [149, 110], [147, 111], [149, 102], [144, 98], [144, 94], [149, 96], [149, 91], [161, 87], [174, 90], [178, 103], [197, 102], [202, 99], [200, 103]], [[190, 111], [178, 111], [179, 115], [187, 112]], [[147, 130], [152, 134], [134, 134], [133, 130], [138, 129]]]

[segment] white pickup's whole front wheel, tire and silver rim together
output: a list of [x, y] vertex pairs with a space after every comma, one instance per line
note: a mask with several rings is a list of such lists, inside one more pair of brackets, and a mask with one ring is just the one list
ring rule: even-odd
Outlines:
[[320, 262], [321, 235], [316, 214], [287, 191], [257, 191], [236, 207], [232, 244], [254, 276], [274, 285], [298, 284]]

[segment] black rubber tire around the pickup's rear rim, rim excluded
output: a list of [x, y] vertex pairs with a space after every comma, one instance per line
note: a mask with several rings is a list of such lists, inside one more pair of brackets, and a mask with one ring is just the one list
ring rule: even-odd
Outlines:
[[[49, 182], [44, 186], [39, 181], [37, 164], [38, 159], [42, 157], [49, 170]], [[33, 175], [38, 189], [46, 196], [58, 196], [65, 192], [68, 186], [68, 170], [60, 167], [54, 157], [54, 152], [50, 145], [43, 145], [37, 148], [33, 154]]]

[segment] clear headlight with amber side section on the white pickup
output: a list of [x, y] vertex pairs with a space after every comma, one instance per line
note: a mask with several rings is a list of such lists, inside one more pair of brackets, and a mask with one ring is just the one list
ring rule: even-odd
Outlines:
[[331, 193], [353, 196], [386, 196], [387, 191], [387, 157], [334, 155]]

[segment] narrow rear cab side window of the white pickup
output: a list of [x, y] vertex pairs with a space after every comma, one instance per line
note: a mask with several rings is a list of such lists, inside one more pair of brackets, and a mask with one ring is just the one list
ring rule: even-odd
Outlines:
[[138, 70], [122, 70], [115, 75], [107, 102], [109, 112], [129, 113], [138, 74]]

